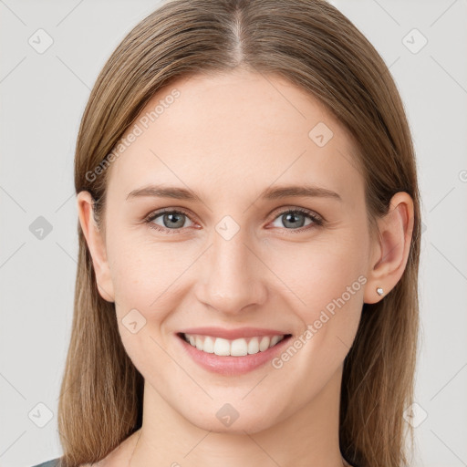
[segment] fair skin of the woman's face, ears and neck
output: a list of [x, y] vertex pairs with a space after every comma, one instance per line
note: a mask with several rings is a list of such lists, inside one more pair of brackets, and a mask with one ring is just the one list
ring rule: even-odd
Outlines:
[[[388, 294], [404, 271], [410, 195], [394, 195], [379, 219], [381, 235], [371, 235], [351, 136], [317, 99], [282, 78], [240, 69], [181, 78], [141, 115], [173, 88], [180, 97], [109, 169], [105, 233], [92, 220], [89, 193], [78, 194], [99, 293], [115, 302], [123, 345], [145, 379], [142, 428], [99, 465], [340, 467], [344, 358], [363, 303], [382, 299], [376, 288]], [[308, 137], [317, 122], [334, 133], [324, 147]], [[202, 202], [126, 199], [150, 183], [188, 187]], [[270, 185], [303, 183], [337, 192], [341, 201], [258, 198]], [[326, 223], [297, 213], [305, 230], [294, 232], [282, 213], [296, 207]], [[189, 213], [179, 233], [163, 215], [152, 223], [168, 233], [143, 222], [162, 208]], [[215, 230], [225, 215], [240, 227], [230, 240]], [[174, 333], [198, 326], [269, 327], [297, 337], [359, 276], [366, 284], [282, 368], [268, 363], [242, 376], [218, 375], [176, 341]], [[136, 334], [121, 323], [133, 308], [146, 318]], [[226, 402], [239, 413], [229, 427], [215, 416]]]

